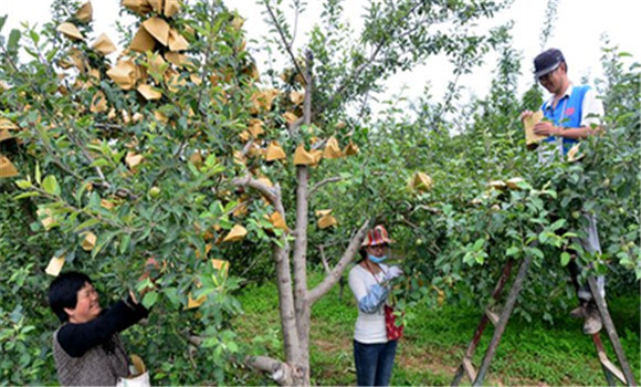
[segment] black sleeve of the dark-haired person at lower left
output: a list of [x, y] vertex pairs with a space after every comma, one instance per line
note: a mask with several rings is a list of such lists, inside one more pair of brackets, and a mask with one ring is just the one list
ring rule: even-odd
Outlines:
[[149, 311], [143, 305], [135, 304], [132, 307], [125, 301], [119, 301], [88, 323], [64, 325], [57, 332], [57, 342], [71, 357], [81, 357], [113, 334], [125, 331], [147, 315]]

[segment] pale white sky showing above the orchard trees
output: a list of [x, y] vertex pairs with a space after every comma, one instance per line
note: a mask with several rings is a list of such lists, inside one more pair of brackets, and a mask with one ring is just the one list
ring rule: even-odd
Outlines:
[[[632, 54], [629, 60], [641, 61], [641, 28], [639, 13], [634, 7], [639, 0], [559, 0], [557, 21], [551, 38], [545, 49], [558, 48], [564, 52], [569, 67], [569, 77], [575, 82], [587, 77], [593, 82], [600, 77], [601, 66], [601, 35], [608, 34], [611, 43], [621, 51]], [[287, 0], [285, 0], [287, 2]], [[8, 14], [8, 21], [2, 30], [7, 35], [11, 28], [19, 28], [20, 22], [42, 24], [49, 20], [52, 0], [0, 0], [0, 15]], [[119, 0], [94, 0], [94, 31], [95, 36], [106, 32], [116, 42], [119, 36], [115, 32], [115, 21], [118, 20]], [[344, 2], [345, 20], [355, 30], [361, 25], [360, 15], [364, 13], [365, 0], [346, 0]], [[518, 90], [524, 92], [533, 82], [529, 75], [533, 69], [533, 59], [540, 52], [540, 31], [544, 25], [547, 0], [514, 0], [512, 7], [502, 11], [494, 19], [484, 22], [481, 27], [495, 27], [514, 21], [511, 30], [513, 48], [521, 54], [521, 65], [524, 75], [519, 80]], [[263, 22], [264, 15], [261, 6], [254, 0], [227, 1], [231, 9], [237, 9], [245, 18], [244, 29], [249, 39], [261, 40], [267, 33]], [[313, 25], [320, 13], [320, 1], [309, 0], [307, 11], [300, 17], [300, 36], [295, 48], [305, 43], [304, 34]], [[291, 13], [293, 17], [293, 13]], [[251, 43], [248, 50], [252, 50]], [[116, 54], [114, 54], [116, 55]], [[254, 55], [259, 61], [261, 57]], [[465, 75], [460, 84], [465, 87], [464, 97], [486, 95], [493, 79], [493, 69], [496, 55], [488, 55], [485, 65]], [[408, 98], [417, 98], [424, 93], [424, 85], [429, 84], [431, 94], [438, 98], [444, 94], [448, 81], [452, 79], [452, 67], [442, 56], [432, 57], [425, 65], [417, 66], [409, 73], [400, 73], [387, 82], [386, 95], [382, 98], [402, 92]]]

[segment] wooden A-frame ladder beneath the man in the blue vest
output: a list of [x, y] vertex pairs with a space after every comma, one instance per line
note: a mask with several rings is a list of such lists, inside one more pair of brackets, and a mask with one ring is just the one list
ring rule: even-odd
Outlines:
[[[507, 295], [507, 300], [505, 305], [503, 306], [503, 311], [501, 315], [496, 314], [492, 310], [492, 304], [496, 304], [507, 279], [512, 272], [512, 268], [514, 265], [514, 261], [509, 260], [503, 268], [498, 282], [492, 292], [492, 304], [488, 305], [479, 325], [476, 326], [476, 331], [474, 332], [474, 336], [467, 346], [467, 351], [465, 351], [465, 356], [461, 362], [461, 365], [456, 369], [456, 374], [454, 375], [454, 379], [452, 380], [452, 386], [459, 386], [461, 378], [463, 375], [466, 375], [470, 380], [472, 381], [472, 386], [481, 386], [483, 384], [483, 379], [485, 378], [487, 370], [490, 369], [490, 363], [494, 357], [496, 348], [498, 347], [498, 342], [501, 341], [501, 336], [505, 332], [505, 327], [507, 326], [507, 321], [509, 320], [509, 315], [514, 310], [514, 305], [516, 304], [516, 300], [518, 297], [518, 293], [523, 287], [523, 282], [527, 276], [527, 270], [529, 269], [529, 264], [532, 263], [532, 258], [525, 258], [521, 266], [518, 268], [518, 273], [516, 274], [516, 279], [509, 290], [509, 294]], [[608, 381], [609, 386], [616, 386], [616, 379], [621, 380], [621, 383], [628, 386], [637, 386], [634, 381], [634, 376], [632, 375], [632, 370], [628, 360], [626, 359], [626, 354], [623, 353], [623, 348], [621, 347], [621, 343], [619, 341], [619, 336], [617, 335], [617, 330], [614, 328], [614, 324], [612, 323], [612, 318], [610, 317], [610, 313], [608, 312], [608, 307], [606, 306], [606, 301], [601, 296], [601, 292], [599, 292], [597, 286], [597, 281], [593, 276], [588, 278], [588, 284], [590, 287], [590, 292], [592, 293], [592, 297], [597, 304], [599, 310], [599, 314], [603, 321], [603, 327], [608, 333], [608, 337], [612, 343], [612, 347], [614, 348], [614, 353], [617, 354], [617, 358], [619, 359], [619, 364], [621, 365], [622, 370], [617, 368], [614, 364], [612, 364], [606, 352], [603, 349], [603, 344], [599, 336], [599, 333], [595, 333], [592, 335], [592, 341], [595, 342], [595, 347], [597, 348], [597, 356], [599, 362], [601, 363], [601, 368], [603, 369], [603, 374], [606, 375], [606, 380]], [[487, 346], [485, 352], [485, 356], [483, 357], [483, 362], [481, 363], [481, 367], [479, 370], [475, 369], [474, 365], [472, 364], [472, 357], [476, 347], [479, 346], [479, 342], [481, 341], [481, 336], [483, 335], [483, 331], [487, 326], [487, 323], [492, 323], [494, 325], [494, 334], [492, 336], [492, 341]]]

